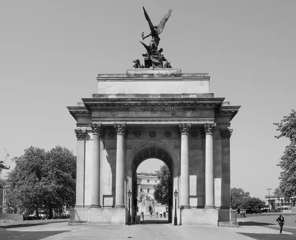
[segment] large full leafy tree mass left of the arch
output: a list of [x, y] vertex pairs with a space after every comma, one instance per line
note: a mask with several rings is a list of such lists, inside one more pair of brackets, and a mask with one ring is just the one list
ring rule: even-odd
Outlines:
[[8, 174], [8, 205], [31, 214], [45, 210], [52, 218], [53, 210], [75, 204], [76, 157], [66, 148], [50, 151], [30, 147], [24, 155], [14, 157], [15, 168]]

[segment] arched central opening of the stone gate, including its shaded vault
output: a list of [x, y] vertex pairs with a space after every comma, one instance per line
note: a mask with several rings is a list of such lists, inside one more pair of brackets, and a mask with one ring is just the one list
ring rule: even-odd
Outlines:
[[[137, 223], [136, 218], [140, 216], [142, 210], [145, 210], [144, 215], [146, 216], [146, 219], [147, 219], [147, 221], [145, 220], [145, 223], [172, 223], [172, 216], [173, 216], [172, 210], [173, 210], [173, 200], [174, 200], [173, 186], [174, 186], [174, 177], [176, 177], [176, 173], [175, 173], [176, 160], [174, 161], [173, 157], [176, 158], [176, 156], [174, 156], [174, 153], [172, 153], [169, 148], [163, 145], [159, 146], [158, 143], [152, 143], [152, 142], [145, 143], [144, 145], [139, 146], [137, 150], [134, 150], [132, 154], [132, 172], [131, 172], [132, 182], [131, 183], [132, 183], [132, 193], [133, 193], [132, 209], [134, 213], [132, 215], [136, 223]], [[158, 161], [156, 159], [158, 159]], [[154, 189], [152, 190], [152, 187], [151, 187], [151, 185], [153, 186], [155, 183], [157, 184], [159, 182], [157, 178], [157, 173], [154, 170], [159, 170], [162, 165], [166, 165], [168, 169], [167, 186], [166, 186], [168, 190], [168, 194], [167, 194], [168, 199], [165, 203], [163, 202], [164, 204], [159, 203], [158, 201], [155, 201], [155, 198], [153, 196]], [[138, 172], [142, 174], [141, 175], [142, 179], [140, 178], [140, 175]], [[145, 176], [145, 175], [148, 175], [148, 176]], [[151, 177], [151, 178], [148, 179], [148, 177]], [[147, 182], [148, 180], [149, 182]], [[154, 182], [151, 182], [151, 181], [154, 181]], [[149, 192], [148, 192], [148, 186], [149, 186]], [[142, 188], [142, 191], [141, 191], [141, 188]], [[143, 203], [143, 198], [146, 196], [150, 197], [152, 200], [151, 202], [150, 198], [148, 199], [147, 206], [146, 206], [146, 203]], [[139, 203], [141, 203], [141, 206], [139, 205]], [[149, 205], [151, 205], [152, 207], [151, 217], [149, 213]], [[144, 206], [145, 206], [145, 209], [144, 209]], [[157, 215], [156, 215], [156, 211], [158, 212]], [[161, 218], [160, 218], [160, 211], [162, 211]], [[164, 211], [166, 212], [165, 218], [163, 215]], [[150, 222], [148, 219], [152, 217], [157, 221]], [[159, 221], [160, 219], [162, 221]]]

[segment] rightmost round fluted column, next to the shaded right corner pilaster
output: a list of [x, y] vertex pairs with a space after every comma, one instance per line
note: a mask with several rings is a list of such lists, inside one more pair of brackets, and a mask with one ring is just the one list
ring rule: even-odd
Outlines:
[[216, 123], [204, 123], [203, 128], [206, 134], [206, 205], [205, 208], [215, 208], [214, 197], [214, 148], [213, 132]]

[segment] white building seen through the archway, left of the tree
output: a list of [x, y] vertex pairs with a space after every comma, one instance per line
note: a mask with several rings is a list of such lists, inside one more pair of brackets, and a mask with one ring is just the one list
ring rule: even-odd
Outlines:
[[[157, 170], [150, 172], [137, 172], [137, 199], [141, 202], [143, 196], [148, 195], [151, 199], [154, 199], [154, 185], [157, 184]], [[140, 192], [144, 193], [141, 194]]]

